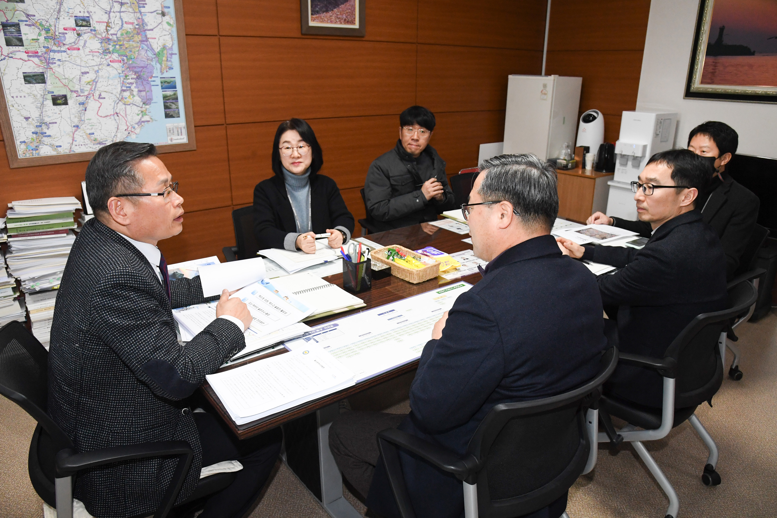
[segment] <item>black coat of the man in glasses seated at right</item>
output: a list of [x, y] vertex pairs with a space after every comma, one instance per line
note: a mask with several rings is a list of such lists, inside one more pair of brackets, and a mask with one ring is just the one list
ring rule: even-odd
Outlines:
[[[698, 210], [662, 224], [643, 249], [586, 245], [583, 259], [621, 268], [598, 276], [605, 306], [618, 306], [618, 348], [663, 358], [696, 315], [728, 307], [723, 247]], [[608, 381], [616, 395], [661, 406], [663, 381], [655, 370], [618, 365]]]

